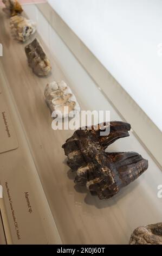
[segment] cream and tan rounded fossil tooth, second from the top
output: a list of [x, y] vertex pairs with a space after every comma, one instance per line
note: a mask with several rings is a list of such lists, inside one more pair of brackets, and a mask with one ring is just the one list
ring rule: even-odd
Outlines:
[[22, 16], [15, 15], [10, 18], [10, 27], [12, 35], [21, 42], [29, 39], [30, 35], [36, 31], [36, 22], [27, 20]]

